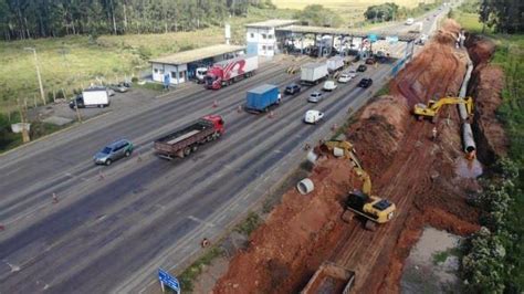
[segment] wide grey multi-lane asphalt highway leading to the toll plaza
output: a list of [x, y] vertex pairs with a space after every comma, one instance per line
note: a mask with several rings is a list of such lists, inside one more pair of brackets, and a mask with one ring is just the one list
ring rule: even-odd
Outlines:
[[[405, 46], [394, 51], [402, 55]], [[371, 88], [356, 87], [357, 77], [316, 105], [306, 98], [322, 85], [303, 87], [284, 96], [274, 117], [238, 112], [249, 88], [297, 82], [285, 69], [306, 60], [265, 63], [253, 77], [219, 91], [190, 85], [1, 156], [0, 293], [136, 293], [155, 283], [158, 267], [179, 271], [202, 237], [220, 235], [245, 214], [300, 165], [306, 143], [328, 138], [391, 71], [370, 66], [359, 77], [374, 78]], [[313, 108], [326, 119], [305, 125], [303, 115]], [[207, 114], [224, 117], [222, 138], [185, 159], [154, 155], [155, 138]], [[137, 145], [134, 156], [94, 166], [94, 153], [117, 138]]]

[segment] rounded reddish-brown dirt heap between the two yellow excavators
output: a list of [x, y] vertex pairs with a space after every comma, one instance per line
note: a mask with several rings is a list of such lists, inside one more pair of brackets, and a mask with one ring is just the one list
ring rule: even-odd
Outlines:
[[[369, 104], [361, 112], [358, 122], [346, 132], [360, 161], [384, 161], [389, 165], [400, 148], [409, 116], [406, 99], [399, 96], [381, 96]], [[365, 168], [371, 176], [380, 172], [380, 167], [376, 165]]]

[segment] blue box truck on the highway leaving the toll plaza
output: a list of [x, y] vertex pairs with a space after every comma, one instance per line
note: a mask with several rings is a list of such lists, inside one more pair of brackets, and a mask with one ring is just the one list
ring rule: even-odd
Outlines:
[[277, 86], [264, 84], [248, 91], [245, 111], [250, 113], [268, 112], [273, 105], [281, 103], [281, 93]]

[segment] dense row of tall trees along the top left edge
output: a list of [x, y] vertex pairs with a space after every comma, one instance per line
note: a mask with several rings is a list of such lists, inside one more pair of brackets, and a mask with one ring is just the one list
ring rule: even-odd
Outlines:
[[271, 0], [0, 0], [4, 40], [188, 31]]

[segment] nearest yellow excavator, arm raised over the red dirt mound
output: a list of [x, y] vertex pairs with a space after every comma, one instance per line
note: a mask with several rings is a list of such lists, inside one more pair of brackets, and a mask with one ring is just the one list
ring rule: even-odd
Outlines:
[[[336, 148], [343, 150], [342, 158], [349, 159], [353, 170], [363, 181], [361, 190], [350, 191], [346, 198], [344, 216], [350, 211], [355, 214], [366, 218], [365, 228], [375, 230], [375, 223], [386, 223], [391, 220], [397, 209], [395, 203], [389, 200], [371, 196], [371, 178], [361, 167], [353, 144], [346, 140], [325, 141], [324, 146], [335, 153]], [[347, 219], [343, 216], [343, 219]]]

